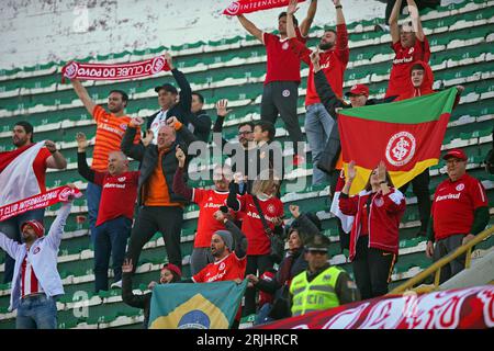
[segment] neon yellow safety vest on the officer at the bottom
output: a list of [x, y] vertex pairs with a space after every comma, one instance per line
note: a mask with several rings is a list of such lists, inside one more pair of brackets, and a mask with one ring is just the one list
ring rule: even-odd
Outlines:
[[290, 293], [293, 296], [292, 316], [339, 306], [335, 287], [341, 272], [339, 268], [329, 267], [312, 282], [307, 281], [306, 271], [296, 275], [290, 285]]

